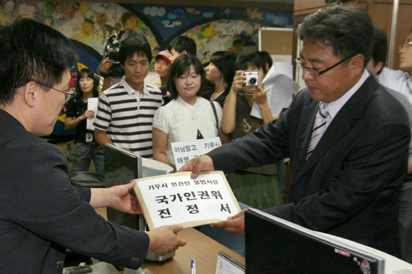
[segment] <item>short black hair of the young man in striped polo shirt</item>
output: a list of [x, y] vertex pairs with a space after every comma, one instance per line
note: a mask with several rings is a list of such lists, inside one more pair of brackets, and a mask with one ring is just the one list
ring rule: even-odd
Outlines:
[[135, 53], [146, 56], [149, 62], [152, 60], [152, 48], [147, 38], [138, 31], [126, 31], [120, 38], [119, 63], [124, 66], [127, 57], [133, 57]]

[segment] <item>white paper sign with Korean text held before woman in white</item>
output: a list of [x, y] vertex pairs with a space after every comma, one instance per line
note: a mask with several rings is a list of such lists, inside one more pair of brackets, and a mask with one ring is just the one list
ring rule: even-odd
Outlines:
[[189, 160], [200, 155], [206, 154], [216, 147], [220, 147], [221, 140], [219, 137], [187, 140], [184, 142], [174, 142], [172, 146], [173, 158], [175, 159], [176, 170], [179, 171]]

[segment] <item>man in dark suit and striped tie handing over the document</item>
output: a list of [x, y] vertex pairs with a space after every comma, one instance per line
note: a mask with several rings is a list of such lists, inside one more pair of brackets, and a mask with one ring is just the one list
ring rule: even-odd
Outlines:
[[[371, 20], [362, 10], [337, 6], [306, 17], [297, 33], [307, 88], [277, 122], [182, 171], [230, 173], [290, 157], [288, 203], [264, 211], [399, 256], [409, 124], [399, 102], [365, 70]], [[244, 212], [214, 226], [244, 233]]]

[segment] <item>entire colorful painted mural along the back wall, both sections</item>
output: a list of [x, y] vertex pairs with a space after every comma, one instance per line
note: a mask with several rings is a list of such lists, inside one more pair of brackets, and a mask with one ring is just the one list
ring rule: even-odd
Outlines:
[[290, 27], [292, 10], [117, 4], [69, 1], [0, 1], [0, 24], [31, 17], [58, 29], [100, 54], [106, 39], [121, 30], [142, 31], [153, 50], [179, 35], [193, 38], [207, 62], [216, 50], [242, 52], [258, 43], [259, 27]]

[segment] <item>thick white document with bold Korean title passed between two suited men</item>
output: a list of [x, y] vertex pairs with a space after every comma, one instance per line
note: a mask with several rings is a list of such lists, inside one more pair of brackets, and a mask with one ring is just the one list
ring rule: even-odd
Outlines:
[[179, 172], [136, 179], [135, 194], [152, 231], [160, 226], [182, 224], [183, 228], [212, 224], [240, 212], [222, 171]]

